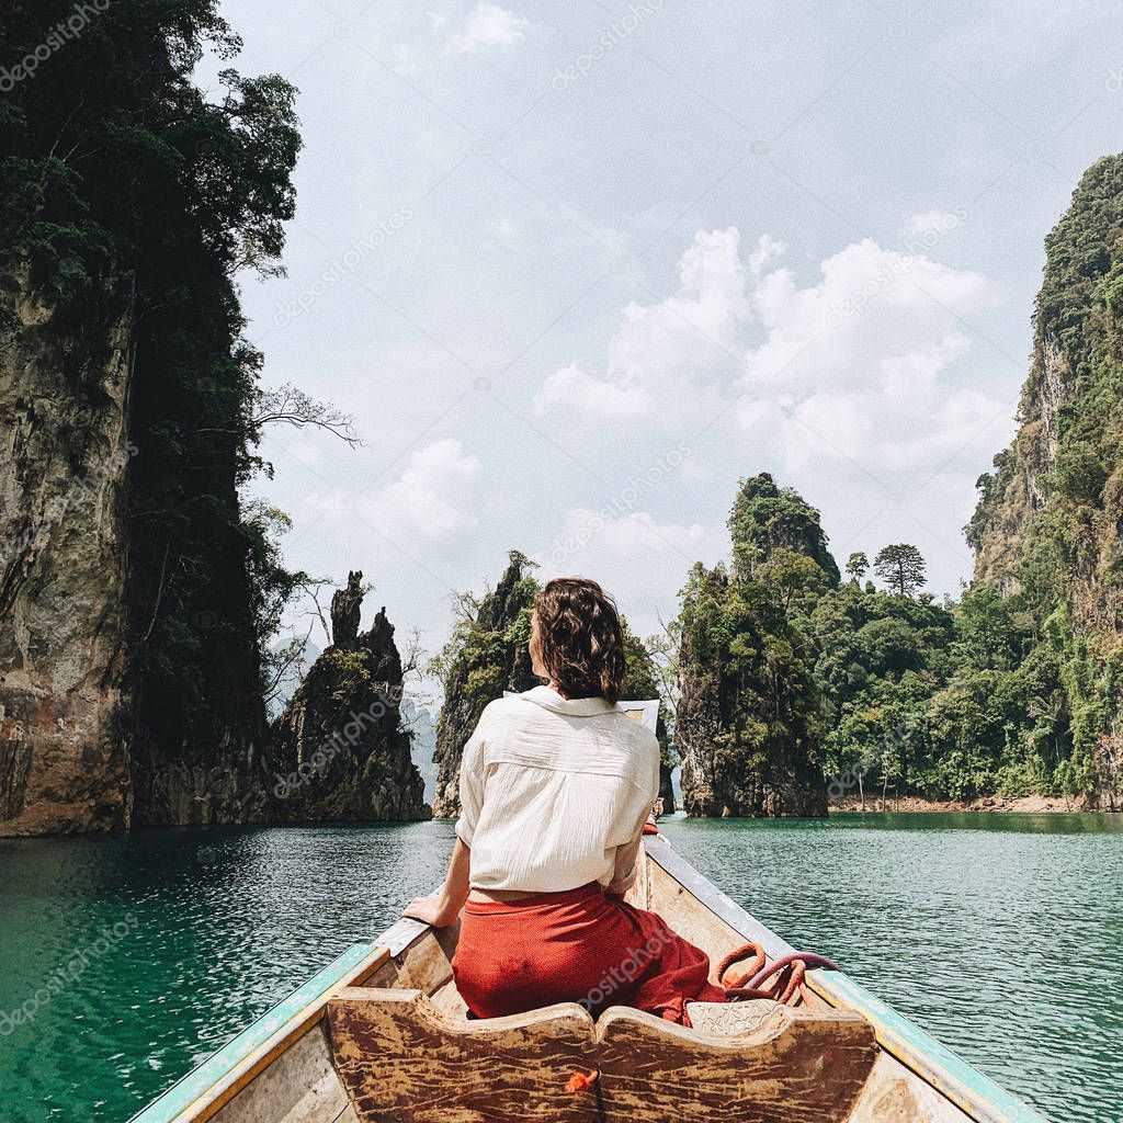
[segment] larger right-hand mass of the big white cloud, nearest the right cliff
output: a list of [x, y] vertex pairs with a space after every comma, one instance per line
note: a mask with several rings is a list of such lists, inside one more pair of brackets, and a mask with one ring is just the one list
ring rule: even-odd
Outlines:
[[793, 471], [953, 455], [1003, 409], [952, 369], [971, 348], [966, 320], [995, 299], [978, 273], [870, 239], [827, 258], [805, 287], [789, 270], [763, 273], [752, 303], [766, 336], [746, 358], [740, 419]]

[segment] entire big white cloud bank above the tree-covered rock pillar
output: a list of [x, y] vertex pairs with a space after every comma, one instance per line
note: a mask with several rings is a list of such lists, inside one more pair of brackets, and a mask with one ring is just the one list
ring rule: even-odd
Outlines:
[[[797, 473], [825, 457], [876, 478], [935, 467], [1004, 410], [986, 371], [968, 375], [965, 363], [968, 322], [996, 292], [980, 274], [930, 256], [961, 218], [914, 214], [914, 239], [902, 248], [852, 243], [803, 285], [769, 235], [745, 262], [736, 228], [699, 230], [679, 261], [677, 292], [628, 304], [604, 373], [578, 363], [556, 371], [536, 412], [568, 410], [606, 424], [707, 421], [730, 393], [721, 387], [720, 405], [702, 409], [712, 390], [705, 368], [736, 353], [742, 398], [729, 416], [752, 433], [755, 459]], [[749, 330], [761, 338], [746, 349]]]

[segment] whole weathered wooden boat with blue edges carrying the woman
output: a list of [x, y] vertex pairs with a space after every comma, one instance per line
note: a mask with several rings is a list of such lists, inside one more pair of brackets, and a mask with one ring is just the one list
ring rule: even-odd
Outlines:
[[[661, 838], [631, 891], [713, 961], [792, 948]], [[341, 955], [134, 1123], [1044, 1123], [838, 971], [796, 1006], [692, 1007], [694, 1028], [567, 1003], [469, 1021], [456, 931], [401, 920]], [[572, 1090], [567, 1090], [572, 1089]]]

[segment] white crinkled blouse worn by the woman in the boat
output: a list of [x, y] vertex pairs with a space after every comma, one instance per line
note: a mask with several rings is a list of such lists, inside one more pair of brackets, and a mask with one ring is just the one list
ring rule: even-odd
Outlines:
[[547, 686], [496, 699], [460, 763], [456, 833], [472, 850], [472, 885], [560, 893], [600, 882], [622, 893], [634, 879], [629, 844], [658, 794], [659, 742], [619, 706]]

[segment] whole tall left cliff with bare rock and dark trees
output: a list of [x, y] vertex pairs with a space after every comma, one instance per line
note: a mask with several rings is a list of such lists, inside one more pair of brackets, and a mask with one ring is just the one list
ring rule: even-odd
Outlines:
[[40, 61], [0, 98], [0, 834], [263, 821], [295, 575], [247, 497], [238, 285], [295, 211], [295, 91], [229, 65], [216, 0], [100, 4], [63, 43], [72, 8], [0, 18], [0, 57]]

